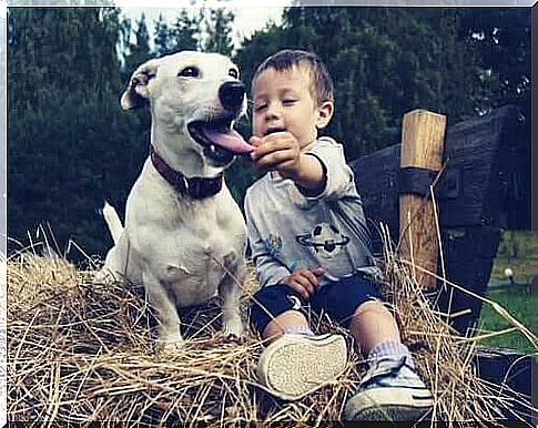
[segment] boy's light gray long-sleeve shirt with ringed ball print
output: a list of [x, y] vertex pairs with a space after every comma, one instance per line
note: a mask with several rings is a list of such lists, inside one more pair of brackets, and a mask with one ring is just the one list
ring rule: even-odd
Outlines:
[[326, 171], [321, 194], [306, 196], [277, 172], [265, 174], [246, 191], [248, 242], [262, 286], [277, 284], [298, 268], [323, 266], [321, 286], [358, 271], [377, 271], [343, 146], [319, 137], [305, 153], [315, 155]]

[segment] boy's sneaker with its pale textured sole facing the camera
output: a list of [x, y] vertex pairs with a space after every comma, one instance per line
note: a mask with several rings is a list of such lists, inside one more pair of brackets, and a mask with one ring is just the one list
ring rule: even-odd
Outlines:
[[296, 400], [334, 381], [346, 365], [343, 336], [285, 334], [263, 351], [257, 378], [274, 396]]

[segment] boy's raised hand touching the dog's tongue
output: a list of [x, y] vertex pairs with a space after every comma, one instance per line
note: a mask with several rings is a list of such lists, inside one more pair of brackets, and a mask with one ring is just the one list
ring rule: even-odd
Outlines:
[[276, 170], [285, 179], [295, 180], [301, 173], [301, 146], [290, 132], [275, 132], [264, 137], [252, 136], [255, 149], [251, 159], [256, 169]]

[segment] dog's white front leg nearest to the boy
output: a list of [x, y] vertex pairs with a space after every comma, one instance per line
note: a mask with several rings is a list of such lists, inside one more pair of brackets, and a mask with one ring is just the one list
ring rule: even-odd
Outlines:
[[225, 263], [225, 265], [229, 272], [233, 273], [233, 277], [226, 274], [219, 286], [219, 294], [222, 297], [222, 332], [225, 335], [241, 337], [244, 333], [244, 326], [241, 318], [240, 297], [246, 272], [242, 262], [235, 259], [233, 263], [226, 262], [229, 263]]

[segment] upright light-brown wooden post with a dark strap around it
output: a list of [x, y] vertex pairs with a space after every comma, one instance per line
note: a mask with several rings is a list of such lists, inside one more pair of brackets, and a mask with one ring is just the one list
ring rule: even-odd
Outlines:
[[[406, 113], [402, 126], [400, 169], [429, 170], [432, 175], [438, 173], [443, 165], [445, 126], [446, 116], [441, 114], [426, 110]], [[412, 261], [416, 266], [436, 273], [437, 225], [429, 191], [426, 196], [415, 193], [400, 194], [399, 235], [400, 256]], [[419, 269], [415, 271], [415, 276], [423, 287], [435, 287], [436, 281], [433, 276]]]

